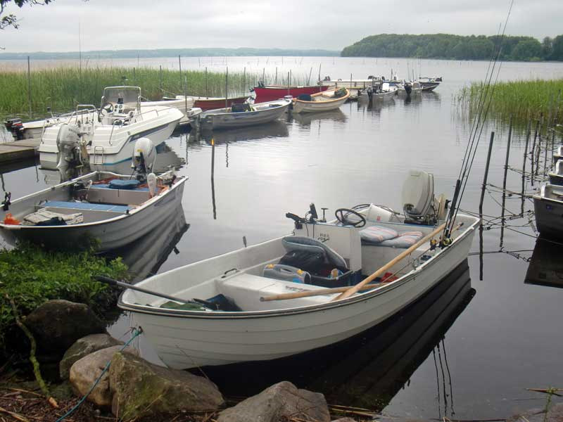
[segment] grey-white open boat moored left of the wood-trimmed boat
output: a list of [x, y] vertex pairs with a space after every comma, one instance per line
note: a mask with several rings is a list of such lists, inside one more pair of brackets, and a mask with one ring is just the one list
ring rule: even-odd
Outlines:
[[204, 111], [199, 115], [199, 124], [203, 129], [230, 129], [272, 122], [283, 116], [290, 104], [290, 98], [267, 103], [234, 104], [229, 108]]

